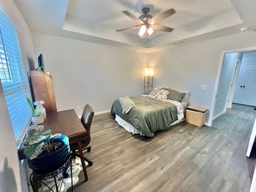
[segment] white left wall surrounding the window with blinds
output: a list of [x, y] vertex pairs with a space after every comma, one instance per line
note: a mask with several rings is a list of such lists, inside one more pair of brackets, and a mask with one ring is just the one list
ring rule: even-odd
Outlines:
[[[1, 0], [0, 6], [20, 28], [18, 32], [25, 70], [34, 68], [34, 48], [30, 29], [23, 20], [12, 0]], [[17, 145], [6, 105], [2, 84], [0, 82], [0, 192], [29, 191], [26, 172], [18, 160]]]

